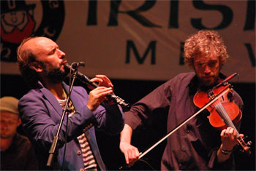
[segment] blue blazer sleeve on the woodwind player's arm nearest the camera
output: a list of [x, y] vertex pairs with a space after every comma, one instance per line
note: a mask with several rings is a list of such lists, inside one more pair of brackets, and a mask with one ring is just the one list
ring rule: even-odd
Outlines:
[[[57, 103], [56, 105], [59, 104]], [[46, 99], [42, 92], [37, 90], [31, 90], [20, 99], [18, 109], [23, 129], [26, 130], [30, 140], [37, 143], [37, 146], [42, 146], [42, 148], [46, 149], [50, 148], [50, 143], [53, 142], [61, 121], [62, 108], [61, 106], [59, 108], [60, 111], [56, 111], [53, 103]], [[59, 139], [64, 140], [64, 135], [67, 134], [67, 142], [69, 142], [82, 134], [83, 128], [91, 123], [96, 124], [97, 119], [89, 108], [83, 106], [76, 114], [69, 117], [68, 122], [67, 117], [64, 117]]]

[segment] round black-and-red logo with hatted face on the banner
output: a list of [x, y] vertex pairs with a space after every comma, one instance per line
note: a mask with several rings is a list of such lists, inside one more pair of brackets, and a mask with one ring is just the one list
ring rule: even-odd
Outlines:
[[16, 62], [16, 49], [26, 37], [56, 41], [64, 15], [64, 1], [1, 1], [1, 61]]

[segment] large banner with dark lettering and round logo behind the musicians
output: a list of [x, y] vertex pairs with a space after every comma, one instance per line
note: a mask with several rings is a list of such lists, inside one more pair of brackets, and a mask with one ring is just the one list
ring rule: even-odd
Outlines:
[[200, 29], [223, 37], [223, 73], [255, 82], [255, 1], [1, 1], [1, 74], [19, 73], [15, 49], [35, 35], [85, 62], [89, 77], [167, 80], [192, 71], [183, 44]]

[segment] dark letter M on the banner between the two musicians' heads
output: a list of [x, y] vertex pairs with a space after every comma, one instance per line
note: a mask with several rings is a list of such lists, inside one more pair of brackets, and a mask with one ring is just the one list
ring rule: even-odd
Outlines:
[[139, 64], [144, 63], [144, 60], [146, 60], [146, 57], [148, 56], [149, 52], [151, 52], [151, 65], [156, 64], [156, 44], [157, 44], [157, 41], [151, 41], [148, 44], [148, 48], [146, 49], [146, 52], [144, 53], [144, 55], [142, 57], [140, 57], [140, 54], [138, 53], [138, 50], [136, 49], [133, 41], [128, 40], [127, 41], [127, 59], [126, 59], [125, 63], [129, 63], [130, 54], [131, 54], [130, 52], [133, 51], [135, 58]]

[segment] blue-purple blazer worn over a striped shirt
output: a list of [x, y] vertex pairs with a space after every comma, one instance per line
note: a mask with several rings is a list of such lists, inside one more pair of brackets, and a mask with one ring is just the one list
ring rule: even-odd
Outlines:
[[[42, 85], [42, 84], [41, 84]], [[69, 87], [63, 83], [64, 90]], [[73, 87], [70, 99], [75, 107], [75, 114], [64, 117], [59, 134], [58, 154], [53, 159], [53, 168], [61, 169], [64, 156], [64, 138], [67, 135], [67, 147], [64, 159], [65, 170], [80, 170], [84, 168], [83, 155], [77, 137], [86, 133], [94, 158], [100, 170], [106, 170], [102, 157], [99, 154], [94, 128], [109, 133], [118, 134], [124, 127], [123, 111], [118, 105], [102, 103], [92, 112], [86, 104], [89, 95], [83, 87]], [[30, 90], [18, 103], [23, 129], [34, 146], [40, 170], [48, 170], [49, 149], [59, 127], [62, 107], [54, 95], [45, 87]], [[66, 130], [67, 126], [67, 130]]]

